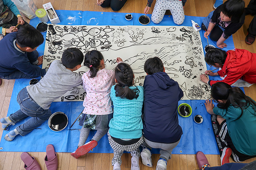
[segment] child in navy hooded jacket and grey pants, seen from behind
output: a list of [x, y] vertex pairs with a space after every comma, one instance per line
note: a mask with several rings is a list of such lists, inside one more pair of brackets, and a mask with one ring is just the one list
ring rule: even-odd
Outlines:
[[171, 79], [160, 58], [149, 58], [144, 65], [147, 73], [144, 81], [144, 118], [142, 163], [152, 167], [151, 148], [160, 148], [160, 159], [156, 170], [166, 170], [167, 161], [182, 136], [178, 122], [178, 101], [183, 91]]

